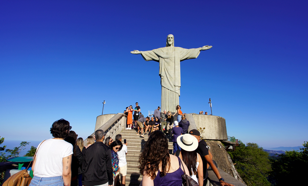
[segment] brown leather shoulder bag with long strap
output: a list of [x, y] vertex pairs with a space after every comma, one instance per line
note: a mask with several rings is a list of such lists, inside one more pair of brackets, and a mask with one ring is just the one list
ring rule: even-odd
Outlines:
[[[45, 141], [45, 140], [44, 140]], [[43, 142], [44, 142], [43, 141]], [[43, 143], [42, 142], [42, 143]], [[42, 145], [41, 143], [41, 145]], [[39, 150], [39, 147], [38, 149]], [[37, 151], [36, 151], [37, 152]], [[34, 160], [35, 156], [36, 156], [36, 152], [35, 152], [35, 155], [33, 157], [33, 159], [31, 161]], [[31, 163], [31, 162], [30, 162]], [[30, 165], [29, 163], [29, 165]], [[19, 171], [15, 174], [13, 174], [12, 176], [10, 176], [3, 184], [2, 186], [29, 186], [32, 178], [31, 176], [28, 174], [28, 168], [29, 168], [29, 165], [27, 167], [27, 169], [24, 169], [22, 171]]]

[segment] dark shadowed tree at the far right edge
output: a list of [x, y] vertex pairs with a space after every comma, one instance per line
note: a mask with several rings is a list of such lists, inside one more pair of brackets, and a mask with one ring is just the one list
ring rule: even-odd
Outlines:
[[271, 159], [271, 182], [273, 185], [293, 185], [295, 180], [305, 178], [308, 166], [308, 143], [304, 142], [301, 151], [286, 151]]

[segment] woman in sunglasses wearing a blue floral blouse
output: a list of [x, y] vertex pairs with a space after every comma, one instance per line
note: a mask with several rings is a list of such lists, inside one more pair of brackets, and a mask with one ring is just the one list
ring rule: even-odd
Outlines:
[[111, 149], [111, 162], [112, 162], [112, 174], [113, 174], [113, 182], [117, 184], [117, 181], [119, 179], [119, 175], [116, 175], [116, 172], [120, 171], [119, 167], [119, 156], [117, 154], [118, 151], [120, 151], [123, 147], [123, 144], [120, 140], [115, 140], [114, 142], [111, 143], [110, 149]]

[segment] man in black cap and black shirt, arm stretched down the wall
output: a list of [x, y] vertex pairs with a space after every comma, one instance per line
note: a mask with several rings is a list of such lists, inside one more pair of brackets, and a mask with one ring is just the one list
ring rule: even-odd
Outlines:
[[196, 149], [196, 152], [200, 154], [201, 159], [202, 159], [202, 163], [203, 163], [203, 178], [204, 178], [203, 185], [204, 186], [206, 185], [206, 183], [207, 183], [206, 180], [209, 176], [208, 168], [207, 168], [207, 164], [209, 163], [209, 165], [212, 167], [213, 172], [215, 173], [215, 175], [219, 179], [221, 186], [222, 185], [233, 186], [232, 184], [228, 184], [227, 182], [225, 182], [225, 180], [220, 176], [220, 173], [219, 173], [217, 167], [215, 166], [212, 158], [209, 155], [208, 145], [206, 144], [206, 142], [204, 140], [200, 140], [200, 132], [196, 129], [193, 129], [193, 130], [189, 131], [189, 134], [196, 137], [197, 140], [199, 141], [198, 148]]

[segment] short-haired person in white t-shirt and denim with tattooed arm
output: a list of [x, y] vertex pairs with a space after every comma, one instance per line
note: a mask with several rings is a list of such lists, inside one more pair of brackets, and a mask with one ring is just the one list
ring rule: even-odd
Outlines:
[[71, 162], [73, 146], [64, 141], [70, 132], [70, 123], [64, 119], [55, 121], [50, 133], [54, 138], [39, 144], [29, 186], [69, 186], [71, 184]]

